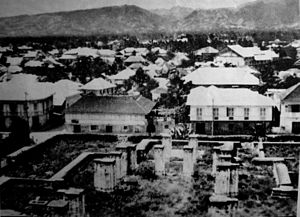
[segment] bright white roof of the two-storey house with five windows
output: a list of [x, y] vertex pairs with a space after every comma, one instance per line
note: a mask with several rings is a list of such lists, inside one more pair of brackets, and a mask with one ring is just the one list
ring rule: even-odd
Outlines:
[[191, 90], [187, 105], [193, 106], [274, 106], [269, 97], [246, 88], [197, 87]]

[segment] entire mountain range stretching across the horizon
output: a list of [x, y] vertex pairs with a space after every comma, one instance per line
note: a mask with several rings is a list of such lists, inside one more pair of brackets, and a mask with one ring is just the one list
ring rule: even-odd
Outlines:
[[145, 10], [134, 5], [0, 18], [0, 36], [142, 34], [218, 29], [299, 28], [299, 0], [258, 0], [238, 8], [174, 7]]

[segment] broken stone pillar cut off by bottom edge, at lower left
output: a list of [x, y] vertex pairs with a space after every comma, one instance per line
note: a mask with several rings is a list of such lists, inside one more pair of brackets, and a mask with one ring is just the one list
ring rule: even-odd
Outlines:
[[85, 196], [84, 190], [78, 188], [60, 189], [57, 191], [62, 195], [64, 201], [69, 204], [69, 216], [85, 216]]

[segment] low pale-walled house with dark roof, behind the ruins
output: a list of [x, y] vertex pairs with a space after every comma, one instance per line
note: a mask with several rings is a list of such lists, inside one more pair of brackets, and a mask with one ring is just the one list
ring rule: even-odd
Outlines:
[[143, 96], [84, 96], [66, 111], [69, 131], [145, 134], [155, 103]]

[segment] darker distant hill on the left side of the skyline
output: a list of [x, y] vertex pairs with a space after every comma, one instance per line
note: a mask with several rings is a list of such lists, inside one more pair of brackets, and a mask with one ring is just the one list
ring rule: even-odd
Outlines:
[[162, 17], [128, 5], [0, 18], [0, 36], [144, 33], [166, 28]]

